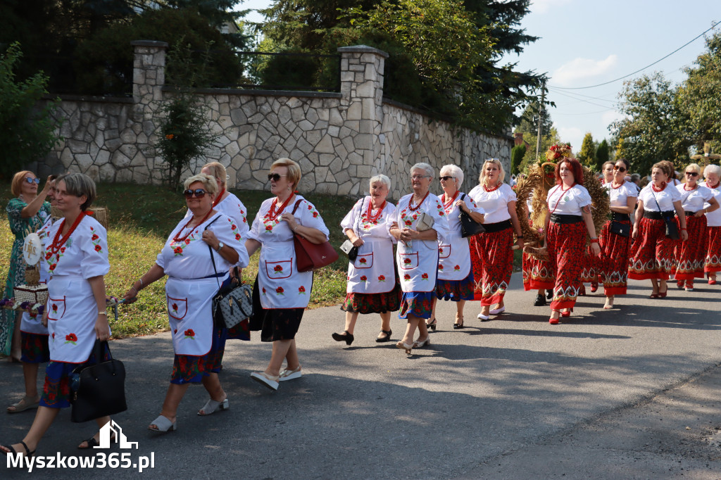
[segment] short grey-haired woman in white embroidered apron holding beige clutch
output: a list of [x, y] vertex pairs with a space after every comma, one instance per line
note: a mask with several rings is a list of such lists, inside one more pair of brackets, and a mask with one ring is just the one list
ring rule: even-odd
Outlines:
[[[448, 243], [443, 203], [428, 191], [433, 176], [433, 167], [429, 164], [411, 167], [413, 193], [399, 200], [391, 228], [391, 234], [399, 241], [396, 262], [403, 290], [399, 318], [407, 319], [405, 334], [396, 347], [408, 354], [413, 348], [429, 345], [425, 319], [430, 319], [433, 310], [438, 242]], [[416, 329], [419, 336], [414, 342]]]

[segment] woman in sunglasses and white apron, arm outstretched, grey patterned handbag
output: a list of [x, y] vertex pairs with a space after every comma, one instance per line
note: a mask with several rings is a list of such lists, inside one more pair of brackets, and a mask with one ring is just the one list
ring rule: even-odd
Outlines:
[[218, 380], [224, 329], [213, 322], [212, 303], [230, 268], [248, 265], [235, 221], [213, 208], [216, 179], [197, 174], [183, 187], [193, 215], [173, 228], [155, 264], [125, 293], [125, 302], [133, 303], [140, 290], [168, 275], [165, 293], [175, 355], [162, 410], [148, 426], [154, 432], [176, 429], [177, 409], [190, 383], [203, 383], [210, 396], [198, 415], [228, 409], [228, 396]]

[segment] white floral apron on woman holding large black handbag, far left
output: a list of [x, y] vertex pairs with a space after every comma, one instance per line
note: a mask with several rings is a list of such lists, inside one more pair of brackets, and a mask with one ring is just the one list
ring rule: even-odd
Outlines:
[[95, 345], [97, 303], [79, 275], [54, 275], [48, 283], [50, 360], [84, 363]]

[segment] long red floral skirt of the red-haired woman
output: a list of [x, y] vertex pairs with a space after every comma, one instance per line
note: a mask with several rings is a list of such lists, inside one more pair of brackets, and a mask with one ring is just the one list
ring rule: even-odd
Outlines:
[[[547, 247], [549, 265], [555, 272], [551, 310], [572, 308], [580, 292], [581, 272], [588, 257], [584, 254], [585, 223], [549, 223]], [[587, 267], [588, 268], [588, 267]]]

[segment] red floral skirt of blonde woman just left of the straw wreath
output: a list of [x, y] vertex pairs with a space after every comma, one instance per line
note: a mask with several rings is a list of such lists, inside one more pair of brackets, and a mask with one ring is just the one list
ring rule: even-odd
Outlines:
[[482, 306], [503, 301], [513, 273], [513, 228], [470, 237], [474, 300]]

